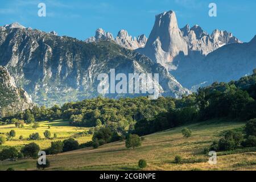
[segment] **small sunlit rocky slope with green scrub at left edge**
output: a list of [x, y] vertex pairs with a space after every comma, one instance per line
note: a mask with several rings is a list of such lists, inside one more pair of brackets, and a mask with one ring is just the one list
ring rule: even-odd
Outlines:
[[32, 108], [34, 103], [22, 88], [17, 88], [14, 78], [0, 66], [0, 117]]

